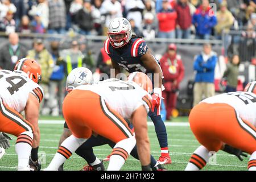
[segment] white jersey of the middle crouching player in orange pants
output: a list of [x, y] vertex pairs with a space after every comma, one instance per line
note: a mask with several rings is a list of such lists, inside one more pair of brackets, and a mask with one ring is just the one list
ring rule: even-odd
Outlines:
[[123, 118], [131, 118], [139, 106], [144, 105], [147, 112], [151, 108], [151, 96], [135, 82], [111, 79], [94, 85], [77, 86], [79, 90], [90, 90], [100, 95], [106, 103]]

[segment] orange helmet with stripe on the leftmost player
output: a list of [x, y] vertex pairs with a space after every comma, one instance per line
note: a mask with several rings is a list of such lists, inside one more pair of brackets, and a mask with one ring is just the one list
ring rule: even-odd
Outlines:
[[37, 84], [41, 80], [41, 67], [34, 59], [24, 57], [18, 60], [14, 67], [15, 70], [27, 73], [28, 77]]

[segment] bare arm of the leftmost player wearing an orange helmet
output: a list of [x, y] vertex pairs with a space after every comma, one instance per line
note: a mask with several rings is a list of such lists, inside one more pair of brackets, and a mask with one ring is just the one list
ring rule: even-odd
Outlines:
[[25, 107], [25, 117], [28, 122], [34, 127], [34, 140], [32, 148], [36, 148], [40, 143], [40, 130], [38, 126], [39, 118], [39, 101], [32, 93], [29, 94], [27, 105]]

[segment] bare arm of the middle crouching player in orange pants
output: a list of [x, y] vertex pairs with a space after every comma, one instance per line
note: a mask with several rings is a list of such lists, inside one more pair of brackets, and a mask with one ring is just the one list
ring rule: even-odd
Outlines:
[[147, 111], [144, 106], [140, 106], [132, 115], [132, 122], [137, 142], [137, 150], [141, 165], [149, 166], [150, 170], [150, 142], [147, 134]]

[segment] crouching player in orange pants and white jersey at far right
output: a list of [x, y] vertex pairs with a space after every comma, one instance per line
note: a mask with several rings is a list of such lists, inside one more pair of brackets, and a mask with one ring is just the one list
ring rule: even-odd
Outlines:
[[189, 123], [202, 144], [191, 156], [185, 170], [200, 170], [209, 161], [210, 151], [224, 150], [230, 154], [251, 155], [249, 171], [256, 171], [256, 82], [245, 92], [229, 92], [207, 98], [193, 107]]

